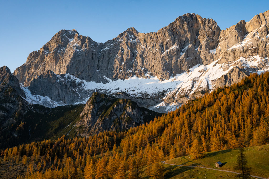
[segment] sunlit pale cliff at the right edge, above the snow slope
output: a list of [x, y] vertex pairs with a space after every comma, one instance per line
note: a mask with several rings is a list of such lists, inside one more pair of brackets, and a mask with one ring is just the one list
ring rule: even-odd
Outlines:
[[219, 63], [235, 61], [240, 57], [268, 57], [269, 10], [254, 16], [249, 22], [240, 21], [222, 30], [214, 59]]

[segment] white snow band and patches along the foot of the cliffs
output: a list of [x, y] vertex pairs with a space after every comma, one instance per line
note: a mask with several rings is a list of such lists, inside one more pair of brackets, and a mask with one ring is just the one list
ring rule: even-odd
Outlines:
[[[213, 50], [212, 53], [215, 51]], [[221, 78], [222, 75], [227, 74], [232, 68], [239, 67], [244, 68], [249, 72], [261, 72], [269, 70], [269, 62], [267, 58], [261, 58], [259, 56], [253, 57], [240, 57], [236, 61], [218, 63], [220, 59], [214, 61], [209, 65], [196, 65], [188, 72], [181, 74], [176, 74], [171, 76], [168, 80], [160, 81], [156, 76], [148, 76], [148, 78], [138, 78], [132, 76], [128, 79], [118, 79], [112, 80], [104, 76], [107, 79], [107, 83], [96, 83], [96, 82], [87, 82], [81, 79], [76, 78], [70, 74], [65, 74], [65, 77], [62, 78], [60, 75], [57, 75], [58, 80], [73, 80], [77, 84], [81, 84], [75, 89], [77, 91], [87, 91], [87, 92], [102, 92], [106, 94], [116, 94], [118, 92], [125, 92], [131, 97], [148, 97], [148, 98], [160, 98], [160, 95], [164, 94], [160, 100], [160, 104], [156, 104], [150, 109], [165, 108], [164, 111], [172, 111], [179, 107], [179, 103], [165, 103], [165, 99], [171, 98], [173, 95], [175, 98], [180, 95], [187, 94], [188, 96], [192, 95], [199, 89], [208, 89], [210, 92], [214, 90], [213, 80]], [[31, 104], [40, 104], [46, 107], [54, 108], [56, 106], [67, 105], [62, 101], [53, 101], [49, 97], [43, 97], [40, 95], [32, 95], [31, 92], [22, 85], [22, 89], [26, 94], [26, 100]], [[91, 95], [91, 93], [89, 93]], [[79, 103], [86, 103], [90, 96], [83, 98]]]

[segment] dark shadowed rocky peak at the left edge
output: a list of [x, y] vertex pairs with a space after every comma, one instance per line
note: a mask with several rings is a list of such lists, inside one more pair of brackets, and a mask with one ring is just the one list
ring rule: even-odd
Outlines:
[[[0, 68], [0, 149], [17, 144], [24, 133], [24, 123], [20, 118], [28, 110], [28, 103], [19, 80], [9, 68]], [[27, 131], [26, 131], [27, 132]]]

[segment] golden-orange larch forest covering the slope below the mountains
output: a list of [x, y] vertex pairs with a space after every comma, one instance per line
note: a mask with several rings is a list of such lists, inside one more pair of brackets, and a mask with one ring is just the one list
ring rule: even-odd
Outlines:
[[252, 74], [128, 131], [33, 142], [1, 156], [28, 165], [18, 178], [161, 178], [162, 160], [267, 144], [268, 80], [269, 72]]

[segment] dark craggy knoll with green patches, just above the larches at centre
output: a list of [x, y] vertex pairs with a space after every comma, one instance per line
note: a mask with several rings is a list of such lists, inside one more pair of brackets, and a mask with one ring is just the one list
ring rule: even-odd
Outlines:
[[89, 136], [100, 131], [123, 131], [150, 120], [160, 113], [139, 107], [128, 99], [109, 97], [101, 93], [93, 93], [80, 114], [77, 132]]

